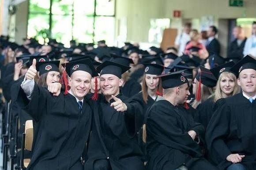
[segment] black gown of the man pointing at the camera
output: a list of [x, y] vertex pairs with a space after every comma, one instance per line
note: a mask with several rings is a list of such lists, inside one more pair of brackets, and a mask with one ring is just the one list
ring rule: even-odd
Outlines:
[[[98, 160], [108, 160], [112, 170], [144, 170], [143, 153], [136, 132], [142, 125], [142, 109], [138, 101], [117, 95], [127, 105], [126, 112], [117, 112], [100, 95], [94, 104], [92, 131], [85, 170], [94, 170]], [[98, 111], [97, 111], [98, 110]]]

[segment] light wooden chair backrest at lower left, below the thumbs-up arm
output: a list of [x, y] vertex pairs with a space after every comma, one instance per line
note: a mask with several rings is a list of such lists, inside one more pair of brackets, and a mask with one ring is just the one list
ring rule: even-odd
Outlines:
[[34, 138], [34, 129], [33, 129], [33, 120], [27, 120], [25, 123], [25, 149], [28, 151], [32, 150], [33, 138]]

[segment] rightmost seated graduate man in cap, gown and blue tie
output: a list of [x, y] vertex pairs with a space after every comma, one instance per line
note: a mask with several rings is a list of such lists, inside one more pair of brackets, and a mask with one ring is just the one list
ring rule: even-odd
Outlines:
[[207, 147], [220, 170], [256, 169], [256, 60], [241, 59], [231, 69], [242, 92], [216, 102], [206, 131]]

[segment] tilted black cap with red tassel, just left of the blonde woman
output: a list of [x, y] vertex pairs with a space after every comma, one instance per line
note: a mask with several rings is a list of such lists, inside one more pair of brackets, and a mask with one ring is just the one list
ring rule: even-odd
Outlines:
[[203, 66], [199, 66], [200, 72], [196, 75], [196, 80], [200, 81], [207, 87], [215, 87], [217, 80], [213, 73]]

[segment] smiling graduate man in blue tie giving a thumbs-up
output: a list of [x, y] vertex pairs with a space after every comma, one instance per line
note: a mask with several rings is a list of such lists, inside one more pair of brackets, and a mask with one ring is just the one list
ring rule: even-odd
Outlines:
[[[58, 67], [42, 64], [45, 70]], [[70, 90], [60, 96], [60, 83], [50, 83], [48, 90], [34, 82], [36, 60], [21, 84], [17, 102], [33, 118], [38, 127], [28, 170], [83, 170], [81, 156], [89, 137], [92, 109], [90, 90], [92, 76], [98, 76], [89, 59], [66, 63]], [[67, 78], [64, 74], [64, 78]], [[51, 93], [50, 93], [51, 92]], [[94, 96], [93, 96], [94, 97]]]

